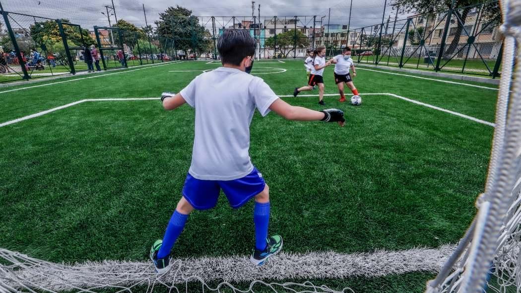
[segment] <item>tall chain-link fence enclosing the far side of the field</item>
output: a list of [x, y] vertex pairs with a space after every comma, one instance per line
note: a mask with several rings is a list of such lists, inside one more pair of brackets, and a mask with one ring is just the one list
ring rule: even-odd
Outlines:
[[2, 11], [2, 16], [0, 21], [5, 30], [0, 32], [4, 52], [4, 58], [0, 59], [0, 82], [75, 74], [100, 67], [219, 59], [217, 40], [229, 29], [249, 30], [257, 42], [255, 56], [259, 59], [305, 58], [308, 50], [323, 45], [328, 56], [351, 47], [353, 59], [359, 64], [494, 78], [501, 72], [498, 2], [400, 20], [397, 16], [394, 20], [389, 17], [382, 23], [356, 29], [349, 25], [326, 25], [324, 17], [317, 16], [172, 15], [162, 16], [155, 22], [155, 28], [136, 30], [117, 26], [91, 29], [67, 19], [7, 11]]

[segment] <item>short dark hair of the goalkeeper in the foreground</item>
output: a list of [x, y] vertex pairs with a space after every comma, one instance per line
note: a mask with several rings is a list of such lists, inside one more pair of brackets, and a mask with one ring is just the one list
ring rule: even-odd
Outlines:
[[241, 65], [242, 59], [255, 54], [255, 39], [250, 30], [225, 30], [217, 42], [222, 64]]

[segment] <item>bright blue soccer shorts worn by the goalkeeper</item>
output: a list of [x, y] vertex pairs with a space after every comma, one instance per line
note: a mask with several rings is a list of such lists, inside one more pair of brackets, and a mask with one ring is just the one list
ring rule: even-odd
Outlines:
[[196, 210], [208, 210], [217, 204], [222, 189], [230, 206], [238, 209], [261, 193], [265, 186], [266, 182], [256, 168], [242, 178], [226, 181], [196, 179], [189, 173], [184, 181], [183, 197]]

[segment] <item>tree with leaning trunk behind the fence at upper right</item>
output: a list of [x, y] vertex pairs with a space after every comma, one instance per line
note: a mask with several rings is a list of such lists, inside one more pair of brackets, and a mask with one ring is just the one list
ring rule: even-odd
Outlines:
[[[454, 53], [458, 43], [460, 43], [460, 36], [463, 31], [463, 27], [465, 26], [467, 15], [470, 13], [470, 11], [475, 9], [473, 5], [475, 6], [482, 3], [482, 0], [393, 0], [392, 5], [394, 7], [399, 7], [402, 13], [414, 12], [415, 14], [435, 15], [438, 11], [450, 9], [453, 1], [454, 7], [463, 8], [453, 10], [453, 15], [457, 18], [457, 28], [454, 33], [454, 38], [443, 53], [444, 56], [449, 56]], [[499, 8], [498, 5], [498, 3], [483, 5], [483, 16], [490, 20], [497, 20], [498, 17], [500, 19], [501, 16], [498, 13], [499, 9], [497, 9]]]

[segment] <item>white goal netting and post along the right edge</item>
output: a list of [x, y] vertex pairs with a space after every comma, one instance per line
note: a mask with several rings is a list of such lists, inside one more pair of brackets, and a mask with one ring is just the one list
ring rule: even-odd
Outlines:
[[501, 1], [501, 8], [503, 72], [485, 193], [429, 293], [521, 292], [521, 1]]

